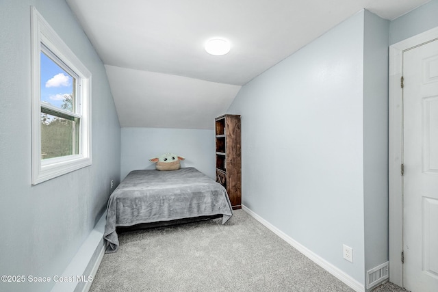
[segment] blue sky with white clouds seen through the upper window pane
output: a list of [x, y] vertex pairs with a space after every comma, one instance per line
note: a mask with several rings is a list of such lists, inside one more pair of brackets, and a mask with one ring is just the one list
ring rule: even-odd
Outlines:
[[73, 93], [73, 78], [47, 55], [41, 55], [41, 102], [61, 107], [63, 94]]

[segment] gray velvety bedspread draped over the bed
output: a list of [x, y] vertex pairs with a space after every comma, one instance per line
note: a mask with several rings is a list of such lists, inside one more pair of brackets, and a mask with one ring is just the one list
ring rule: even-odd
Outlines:
[[196, 168], [133, 170], [107, 204], [106, 252], [118, 249], [118, 226], [218, 214], [222, 224], [233, 215], [227, 191]]

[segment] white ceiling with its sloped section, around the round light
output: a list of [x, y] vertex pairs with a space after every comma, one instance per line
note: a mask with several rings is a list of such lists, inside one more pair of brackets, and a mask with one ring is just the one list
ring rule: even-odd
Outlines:
[[[429, 0], [66, 0], [101, 57], [121, 127], [213, 129], [244, 85], [365, 8]], [[205, 52], [222, 36], [227, 55]]]

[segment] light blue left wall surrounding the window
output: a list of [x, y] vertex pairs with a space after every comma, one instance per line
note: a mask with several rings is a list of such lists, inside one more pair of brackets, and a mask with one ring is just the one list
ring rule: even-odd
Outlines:
[[[0, 275], [62, 272], [120, 178], [120, 126], [101, 59], [64, 0], [0, 1]], [[30, 5], [92, 72], [92, 165], [31, 186]], [[0, 282], [49, 291], [53, 282]]]

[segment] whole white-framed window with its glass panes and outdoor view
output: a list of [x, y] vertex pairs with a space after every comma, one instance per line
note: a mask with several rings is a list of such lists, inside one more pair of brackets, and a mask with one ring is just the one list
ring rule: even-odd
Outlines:
[[91, 74], [32, 8], [32, 184], [91, 165]]

